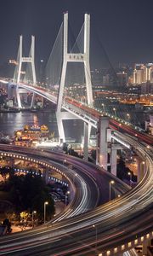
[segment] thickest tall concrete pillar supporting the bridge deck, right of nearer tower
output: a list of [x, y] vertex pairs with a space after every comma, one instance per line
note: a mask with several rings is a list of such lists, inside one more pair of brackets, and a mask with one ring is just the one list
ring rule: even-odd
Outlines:
[[108, 146], [107, 146], [107, 129], [109, 128], [109, 118], [101, 116], [99, 118], [97, 133], [97, 154], [96, 164], [107, 170]]

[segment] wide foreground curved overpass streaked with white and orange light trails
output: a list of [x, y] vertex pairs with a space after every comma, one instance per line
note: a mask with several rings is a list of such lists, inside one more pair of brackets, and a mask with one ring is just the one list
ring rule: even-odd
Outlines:
[[[130, 137], [126, 139], [137, 148], [138, 154], [145, 154], [147, 172], [134, 189], [121, 198], [42, 230], [1, 237], [0, 255], [118, 255], [135, 247], [144, 238], [152, 237], [153, 149], [146, 152], [144, 145]], [[89, 163], [87, 166], [90, 170]], [[94, 177], [96, 173], [99, 175], [99, 168], [95, 166], [88, 172]], [[108, 172], [101, 172], [109, 179], [112, 177]]]

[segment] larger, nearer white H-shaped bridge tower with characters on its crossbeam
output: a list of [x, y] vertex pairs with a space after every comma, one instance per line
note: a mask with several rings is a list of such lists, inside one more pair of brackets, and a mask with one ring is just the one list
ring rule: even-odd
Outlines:
[[[65, 87], [65, 75], [68, 62], [82, 62], [84, 64], [85, 71], [85, 82], [87, 86], [87, 102], [88, 106], [93, 107], [93, 90], [91, 84], [91, 75], [90, 75], [90, 65], [89, 65], [89, 40], [90, 40], [90, 15], [84, 15], [84, 50], [83, 53], [69, 53], [68, 52], [68, 13], [64, 14], [64, 38], [63, 38], [63, 66], [59, 84], [59, 96], [57, 102], [57, 123], [59, 129], [59, 138], [65, 142], [65, 131], [63, 127], [63, 119], [76, 119], [72, 113], [62, 111], [63, 106], [63, 95]], [[85, 136], [84, 140], [86, 141], [86, 151], [87, 151], [87, 136], [90, 134], [91, 127], [85, 124]], [[87, 135], [88, 134], [88, 135]], [[88, 137], [89, 138], [89, 137]], [[87, 158], [87, 152], [85, 154]]]

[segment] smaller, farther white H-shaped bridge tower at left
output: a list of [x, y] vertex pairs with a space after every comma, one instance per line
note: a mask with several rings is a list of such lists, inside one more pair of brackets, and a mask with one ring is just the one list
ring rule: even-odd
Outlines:
[[[23, 56], [23, 47], [22, 47], [23, 37], [20, 35], [20, 45], [19, 45], [19, 52], [18, 52], [18, 66], [14, 73], [14, 82], [19, 84], [20, 83], [20, 76], [21, 76], [21, 68], [23, 63], [31, 63], [31, 74], [32, 74], [32, 82], [33, 84], [37, 83], [36, 79], [36, 70], [35, 70], [35, 37], [31, 36], [31, 49], [30, 55], [28, 57]], [[20, 85], [16, 86], [16, 98], [18, 102], [18, 107], [22, 108], [20, 102], [20, 93], [27, 93], [27, 90], [20, 89]]]

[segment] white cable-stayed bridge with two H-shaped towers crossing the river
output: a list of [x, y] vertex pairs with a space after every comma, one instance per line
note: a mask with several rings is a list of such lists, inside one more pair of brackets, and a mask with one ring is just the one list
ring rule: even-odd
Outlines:
[[[22, 37], [20, 37], [20, 48], [17, 58], [19, 64], [16, 66], [14, 72], [14, 81], [9, 81], [8, 83], [10, 86], [12, 84], [16, 86], [16, 97], [19, 108], [22, 108], [20, 94], [25, 93], [27, 90], [30, 90], [33, 93], [32, 101], [34, 95], [37, 94], [57, 104], [56, 116], [59, 137], [63, 142], [65, 142], [63, 119], [82, 119], [84, 122], [85, 159], [88, 157], [88, 138], [91, 127], [93, 126], [97, 129], [98, 134], [97, 164], [99, 166], [107, 170], [108, 145], [111, 143], [111, 166], [113, 166], [111, 173], [116, 175], [116, 150], [118, 147], [121, 148], [121, 146], [112, 143], [111, 140], [113, 138], [113, 140], [116, 140], [117, 143], [122, 144], [124, 147], [133, 147], [133, 150], [135, 151], [137, 151], [138, 148], [137, 154], [139, 155], [140, 161], [146, 158], [146, 155], [148, 154], [148, 162], [145, 163], [145, 168], [141, 168], [139, 172], [143, 172], [143, 174], [145, 174], [146, 170], [151, 172], [152, 161], [150, 160], [150, 155], [152, 155], [152, 153], [145, 154], [144, 148], [149, 145], [151, 148], [153, 143], [152, 137], [144, 134], [139, 127], [135, 127], [135, 125], [130, 124], [128, 121], [118, 118], [116, 113], [109, 113], [105, 110], [104, 105], [101, 104], [100, 108], [94, 106], [89, 65], [89, 21], [90, 16], [86, 14], [81, 32], [78, 35], [76, 43], [73, 44], [70, 50], [68, 48], [68, 14], [65, 13], [64, 24], [59, 29], [58, 37], [56, 38], [54, 48], [48, 61], [46, 71], [46, 81], [48, 81], [48, 83], [45, 83], [45, 88], [42, 84], [37, 84], [36, 82], [34, 38], [31, 38], [30, 55], [25, 57], [22, 55]], [[23, 73], [22, 65], [25, 64], [26, 70], [25, 73]], [[6, 80], [4, 81], [6, 82]], [[114, 110], [114, 112], [116, 111]], [[112, 134], [112, 130], [118, 131], [113, 132]], [[134, 137], [134, 139], [127, 137], [126, 133]], [[139, 145], [139, 142], [144, 142], [144, 146]], [[150, 174], [150, 179], [151, 178]], [[141, 187], [141, 189], [144, 191], [143, 187]], [[149, 197], [148, 201], [146, 199], [147, 196]], [[147, 194], [146, 198], [145, 203], [148, 207], [150, 205], [150, 195]], [[131, 212], [133, 212], [133, 208], [131, 209]], [[125, 248], [130, 248], [132, 245], [133, 243], [131, 242], [129, 247], [121, 247], [120, 250], [124, 251]], [[101, 245], [99, 247], [101, 247]], [[104, 255], [113, 255], [113, 253], [115, 254], [117, 252], [116, 248], [113, 248], [112, 252], [111, 250], [108, 250]], [[103, 253], [99, 254], [103, 255]]]

